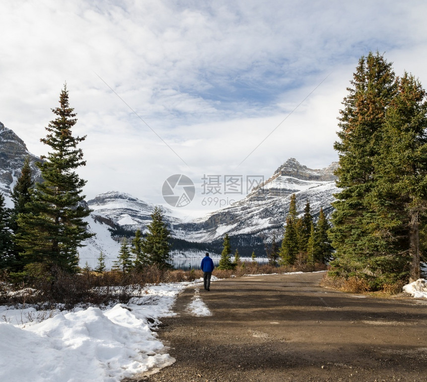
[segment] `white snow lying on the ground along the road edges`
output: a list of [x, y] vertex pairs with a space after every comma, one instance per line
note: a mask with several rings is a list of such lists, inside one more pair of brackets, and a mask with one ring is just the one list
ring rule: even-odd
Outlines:
[[[0, 380], [119, 382], [172, 365], [175, 359], [155, 329], [159, 319], [176, 315], [175, 299], [187, 287], [194, 288], [194, 295], [186, 310], [195, 316], [212, 315], [200, 294], [202, 284], [203, 279], [151, 285], [128, 304], [105, 310], [0, 306]], [[420, 279], [404, 290], [414, 298], [427, 298], [427, 281]]]

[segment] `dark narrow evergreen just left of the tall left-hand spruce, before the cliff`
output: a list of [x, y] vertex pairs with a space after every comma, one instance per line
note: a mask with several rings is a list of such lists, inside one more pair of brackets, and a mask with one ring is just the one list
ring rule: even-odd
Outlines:
[[11, 194], [13, 209], [10, 214], [10, 229], [12, 230], [13, 243], [10, 268], [15, 272], [22, 271], [25, 265], [22, 256], [20, 255], [20, 252], [23, 251], [23, 248], [15, 242], [15, 237], [19, 234], [17, 219], [19, 214], [29, 213], [27, 204], [31, 200], [31, 193], [33, 192], [33, 189], [34, 181], [32, 179], [30, 158], [27, 156], [21, 169], [21, 175], [13, 186]]

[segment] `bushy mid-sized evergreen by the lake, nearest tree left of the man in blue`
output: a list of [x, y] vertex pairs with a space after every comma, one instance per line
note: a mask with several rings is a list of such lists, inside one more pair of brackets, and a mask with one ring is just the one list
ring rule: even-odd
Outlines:
[[159, 269], [172, 268], [170, 261], [170, 232], [163, 222], [163, 214], [159, 207], [155, 207], [151, 214], [151, 223], [147, 226], [148, 233], [142, 240], [142, 252], [149, 259], [150, 264]]

